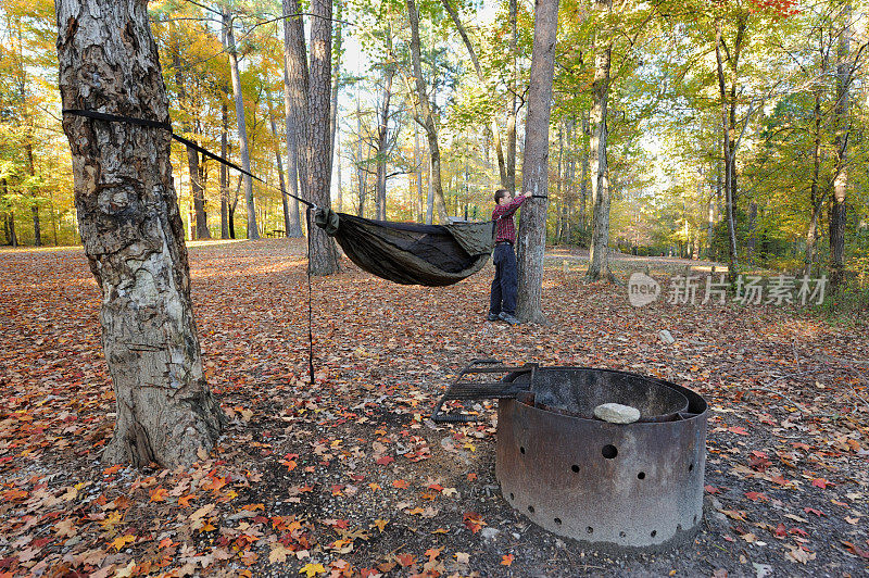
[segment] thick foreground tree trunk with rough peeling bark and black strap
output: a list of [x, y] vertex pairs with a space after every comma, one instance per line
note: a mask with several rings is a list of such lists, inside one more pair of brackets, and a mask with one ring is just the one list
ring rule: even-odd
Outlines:
[[[63, 106], [168, 123], [147, 2], [55, 7]], [[63, 128], [117, 400], [103, 460], [189, 465], [216, 442], [223, 414], [202, 373], [169, 131], [72, 115]]]

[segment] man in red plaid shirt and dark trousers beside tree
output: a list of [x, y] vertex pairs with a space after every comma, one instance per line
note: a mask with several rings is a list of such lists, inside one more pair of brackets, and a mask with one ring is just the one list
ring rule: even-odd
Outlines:
[[530, 192], [509, 198], [509, 191], [498, 189], [495, 191], [495, 206], [492, 211], [492, 221], [495, 222], [495, 252], [492, 262], [495, 264], [495, 278], [492, 281], [492, 296], [489, 303], [490, 322], [501, 319], [511, 325], [518, 325], [516, 314], [516, 289], [519, 277], [516, 271], [516, 253], [513, 244], [516, 242], [516, 225], [513, 214], [531, 197]]

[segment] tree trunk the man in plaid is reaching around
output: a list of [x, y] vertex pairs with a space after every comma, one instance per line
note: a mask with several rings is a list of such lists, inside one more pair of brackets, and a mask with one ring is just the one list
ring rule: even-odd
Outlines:
[[[525, 122], [522, 191], [546, 196], [550, 155], [550, 100], [555, 67], [555, 37], [558, 28], [558, 0], [538, 0], [534, 7], [534, 41], [528, 115]], [[546, 323], [541, 306], [543, 256], [546, 249], [546, 199], [528, 199], [519, 217], [519, 291], [516, 316], [519, 321]]]

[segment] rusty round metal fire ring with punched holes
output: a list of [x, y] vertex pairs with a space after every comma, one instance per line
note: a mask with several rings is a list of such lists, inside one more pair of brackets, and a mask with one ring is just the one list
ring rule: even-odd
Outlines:
[[[503, 381], [511, 395], [499, 402], [495, 474], [513, 507], [597, 549], [659, 550], [694, 536], [706, 464], [701, 395], [584, 367], [536, 367]], [[640, 422], [594, 419], [608, 402], [638, 407]]]

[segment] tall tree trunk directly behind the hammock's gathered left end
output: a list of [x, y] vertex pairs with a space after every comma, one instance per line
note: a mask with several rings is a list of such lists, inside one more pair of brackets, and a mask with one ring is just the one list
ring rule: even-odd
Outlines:
[[[331, 0], [311, 2], [311, 67], [307, 97], [307, 123], [303, 146], [307, 165], [308, 199], [320, 209], [331, 206], [332, 169], [331, 112], [332, 83], [332, 4]], [[338, 250], [335, 240], [322, 228], [308, 224], [311, 238], [308, 271], [312, 275], [338, 273]]]

